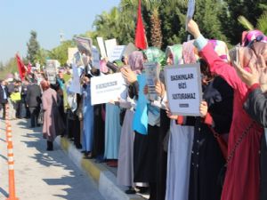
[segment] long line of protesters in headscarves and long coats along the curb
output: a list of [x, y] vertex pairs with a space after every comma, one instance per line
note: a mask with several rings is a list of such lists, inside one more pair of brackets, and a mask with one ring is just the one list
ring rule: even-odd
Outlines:
[[[81, 50], [82, 64], [72, 66], [73, 73], [61, 68], [56, 84], [39, 72], [22, 84], [1, 81], [3, 115], [8, 104], [11, 118], [29, 117], [35, 127], [43, 112], [47, 150], [53, 150], [57, 135], [73, 140], [85, 159], [117, 167], [117, 184], [128, 187], [127, 194], [149, 191], [151, 200], [266, 200], [267, 37], [247, 32], [230, 56], [226, 44], [207, 40], [194, 20], [188, 29], [194, 40], [166, 52], [155, 47], [132, 52], [113, 62], [118, 70], [93, 68], [90, 52]], [[147, 98], [144, 62], [161, 65], [157, 100]], [[164, 66], [196, 62], [200, 116], [174, 116]], [[80, 92], [70, 90], [75, 69]], [[128, 84], [125, 97], [92, 105], [91, 78], [117, 72]]]

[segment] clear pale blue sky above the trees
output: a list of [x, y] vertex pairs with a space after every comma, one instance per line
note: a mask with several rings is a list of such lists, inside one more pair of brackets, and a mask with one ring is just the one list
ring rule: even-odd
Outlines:
[[98, 14], [117, 6], [120, 0], [0, 0], [0, 61], [6, 63], [16, 52], [25, 57], [30, 31], [51, 50], [65, 39], [93, 29]]

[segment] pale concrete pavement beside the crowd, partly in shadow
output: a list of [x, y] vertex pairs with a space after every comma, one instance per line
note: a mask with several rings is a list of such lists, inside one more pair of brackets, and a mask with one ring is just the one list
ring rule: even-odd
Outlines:
[[[41, 128], [24, 119], [11, 121], [16, 194], [20, 200], [103, 200], [92, 178], [80, 171], [54, 144], [46, 151]], [[0, 120], [0, 199], [8, 196], [5, 124]]]

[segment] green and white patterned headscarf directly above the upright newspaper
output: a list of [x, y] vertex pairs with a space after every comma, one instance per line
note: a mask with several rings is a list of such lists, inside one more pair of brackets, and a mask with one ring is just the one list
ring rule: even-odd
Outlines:
[[148, 49], [144, 50], [143, 53], [149, 62], [158, 62], [161, 66], [166, 64], [165, 53], [157, 47], [149, 47]]

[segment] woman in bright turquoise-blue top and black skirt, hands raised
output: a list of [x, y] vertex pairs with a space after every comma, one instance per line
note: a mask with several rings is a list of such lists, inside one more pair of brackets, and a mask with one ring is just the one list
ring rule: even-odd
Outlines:
[[[148, 161], [148, 100], [143, 92], [146, 84], [146, 76], [142, 73], [142, 52], [135, 52], [138, 55], [130, 65], [131, 68], [122, 68], [121, 72], [129, 85], [129, 97], [136, 103], [133, 129], [134, 129], [134, 184], [140, 187], [141, 192], [147, 188], [149, 182], [149, 161]], [[134, 68], [134, 66], [138, 68]], [[132, 70], [134, 69], [135, 72]], [[138, 75], [139, 73], [139, 75]], [[144, 187], [144, 188], [143, 188]]]

